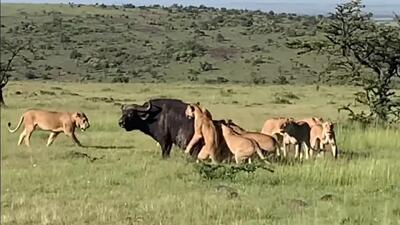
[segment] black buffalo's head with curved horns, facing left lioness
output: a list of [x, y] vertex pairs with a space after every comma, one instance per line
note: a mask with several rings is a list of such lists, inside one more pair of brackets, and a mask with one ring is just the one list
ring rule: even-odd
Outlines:
[[126, 131], [140, 129], [140, 127], [149, 119], [152, 113], [151, 102], [146, 102], [143, 105], [131, 104], [121, 106], [122, 116], [119, 119], [119, 126]]

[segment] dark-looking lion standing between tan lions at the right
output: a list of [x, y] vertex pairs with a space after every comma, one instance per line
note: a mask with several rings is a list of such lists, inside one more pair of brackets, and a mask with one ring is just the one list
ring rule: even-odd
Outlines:
[[288, 144], [295, 145], [295, 158], [299, 156], [300, 152], [300, 159], [302, 159], [304, 152], [306, 159], [309, 159], [309, 150], [311, 149], [310, 126], [306, 122], [291, 120], [281, 124], [280, 129], [283, 134], [284, 146]]

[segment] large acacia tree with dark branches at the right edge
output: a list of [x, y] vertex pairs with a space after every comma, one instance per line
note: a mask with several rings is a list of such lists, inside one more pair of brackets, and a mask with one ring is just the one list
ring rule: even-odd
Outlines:
[[328, 75], [334, 76], [334, 72], [362, 86], [355, 100], [368, 106], [369, 112], [356, 113], [350, 105], [339, 110], [363, 122], [398, 121], [400, 101], [393, 87], [395, 78], [400, 77], [400, 29], [377, 24], [363, 8], [361, 0], [338, 5], [321, 26], [324, 40], [296, 41], [289, 46], [302, 48], [300, 54], [317, 50], [329, 55]]

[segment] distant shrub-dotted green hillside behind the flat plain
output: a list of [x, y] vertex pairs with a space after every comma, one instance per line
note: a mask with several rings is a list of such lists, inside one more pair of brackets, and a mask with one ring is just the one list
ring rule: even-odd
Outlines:
[[34, 45], [30, 62], [14, 66], [16, 79], [309, 84], [323, 57], [298, 56], [286, 43], [318, 37], [321, 18], [207, 7], [2, 4], [1, 35]]

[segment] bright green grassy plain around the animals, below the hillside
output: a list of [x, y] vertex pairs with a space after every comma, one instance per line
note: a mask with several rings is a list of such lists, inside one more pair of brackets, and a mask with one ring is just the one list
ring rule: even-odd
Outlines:
[[[400, 224], [399, 130], [344, 122], [336, 108], [351, 101], [354, 91], [10, 82], [8, 107], [1, 109], [2, 224]], [[271, 103], [287, 93], [293, 104]], [[249, 130], [261, 129], [274, 116], [330, 118], [338, 124], [341, 155], [338, 160], [327, 154], [324, 160], [275, 163], [274, 173], [257, 169], [233, 179], [204, 179], [179, 149], [163, 160], [151, 138], [118, 127], [120, 110], [114, 103], [157, 96], [200, 101], [216, 119], [231, 118]], [[113, 101], [103, 102], [103, 97]], [[30, 107], [84, 111], [92, 126], [77, 135], [91, 147], [75, 147], [60, 135], [47, 148], [45, 132], [33, 134], [31, 151], [17, 147], [20, 131], [10, 134], [6, 124], [15, 125]]]

